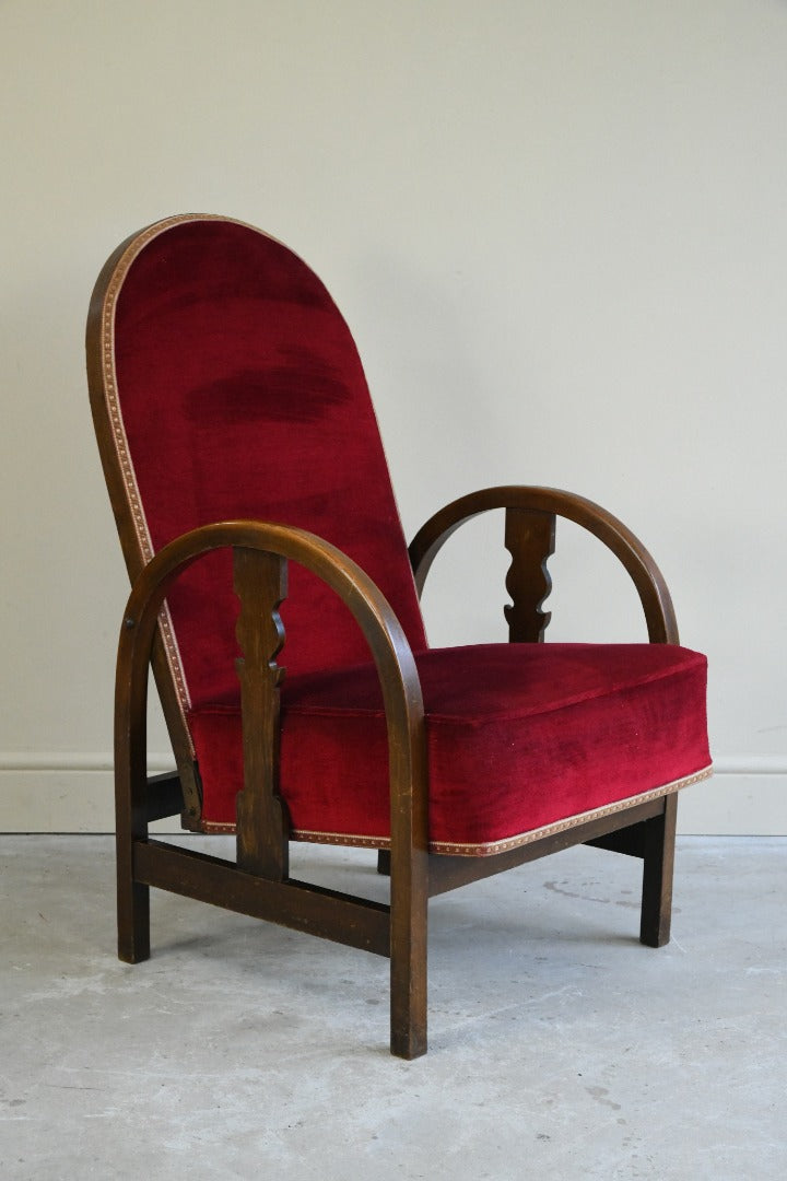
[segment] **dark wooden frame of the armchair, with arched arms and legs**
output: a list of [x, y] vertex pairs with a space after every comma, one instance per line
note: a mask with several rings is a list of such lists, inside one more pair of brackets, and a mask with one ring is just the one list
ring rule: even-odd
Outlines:
[[[110, 260], [112, 262], [112, 260]], [[100, 285], [100, 280], [99, 280]], [[99, 286], [97, 285], [97, 286]], [[88, 329], [90, 331], [90, 329]], [[90, 355], [90, 350], [88, 350]], [[100, 386], [93, 368], [91, 389]], [[93, 398], [94, 410], [98, 398]], [[97, 412], [105, 470], [112, 468], [106, 423]], [[117, 472], [107, 482], [129, 536]], [[664, 580], [641, 542], [614, 516], [583, 497], [546, 488], [505, 487], [471, 494], [447, 505], [409, 547], [419, 592], [445, 541], [465, 521], [505, 509], [505, 546], [512, 562], [505, 608], [510, 640], [543, 639], [549, 615], [540, 606], [550, 589], [546, 562], [562, 516], [595, 534], [622, 561], [637, 588], [651, 642], [677, 644]], [[237, 634], [243, 715], [244, 788], [237, 805], [237, 861], [230, 862], [149, 836], [149, 823], [182, 811], [186, 827], [198, 813], [198, 772], [170, 707], [171, 685], [160, 657], [157, 624], [178, 574], [203, 554], [230, 547], [241, 600]], [[124, 542], [126, 557], [129, 546]], [[348, 606], [375, 663], [388, 732], [391, 849], [379, 869], [391, 875], [389, 905], [324, 889], [289, 876], [288, 817], [278, 795], [278, 685], [276, 655], [283, 642], [278, 606], [287, 594], [287, 563], [301, 563]], [[282, 524], [230, 521], [205, 526], [172, 541], [135, 572], [120, 633], [116, 687], [116, 810], [118, 946], [120, 959], [150, 954], [149, 892], [155, 886], [230, 911], [363, 948], [391, 959], [391, 1050], [402, 1058], [426, 1052], [427, 906], [429, 896], [511, 869], [572, 844], [588, 843], [640, 857], [643, 889], [640, 939], [651, 947], [669, 940], [676, 792], [588, 821], [569, 818], [550, 835], [492, 856], [428, 852], [428, 782], [424, 704], [415, 661], [404, 631], [376, 586], [345, 554], [313, 534]], [[178, 771], [146, 775], [147, 670], [153, 663], [170, 723]]]

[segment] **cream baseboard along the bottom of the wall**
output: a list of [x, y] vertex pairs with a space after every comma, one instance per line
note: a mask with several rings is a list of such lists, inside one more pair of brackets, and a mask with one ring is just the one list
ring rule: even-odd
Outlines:
[[[173, 765], [149, 758], [151, 774]], [[157, 831], [177, 831], [159, 821]], [[0, 833], [111, 833], [112, 758], [104, 752], [0, 753]], [[787, 836], [787, 756], [727, 756], [715, 775], [681, 795], [678, 831], [701, 836]]]

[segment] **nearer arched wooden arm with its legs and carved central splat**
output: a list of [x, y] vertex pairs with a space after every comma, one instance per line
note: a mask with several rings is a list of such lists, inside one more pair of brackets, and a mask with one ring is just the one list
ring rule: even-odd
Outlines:
[[[286, 594], [286, 561], [291, 560], [326, 582], [347, 605], [366, 637], [380, 678], [388, 729], [391, 782], [389, 944], [383, 950], [389, 952], [392, 960], [392, 1050], [401, 1057], [417, 1057], [426, 1050], [428, 894], [426, 739], [418, 671], [405, 633], [375, 583], [347, 555], [306, 530], [254, 521], [204, 526], [159, 550], [135, 582], [120, 632], [116, 681], [119, 911], [126, 907], [125, 920], [123, 914], [119, 916], [122, 958], [136, 960], [149, 953], [146, 887], [138, 887], [139, 879], [135, 875], [135, 841], [145, 842], [147, 835], [147, 666], [158, 613], [170, 587], [184, 569], [204, 554], [227, 547], [235, 552], [235, 586], [242, 600], [238, 635], [245, 650], [243, 664], [247, 666], [240, 668], [243, 712], [245, 715], [250, 703], [255, 713], [262, 713], [251, 719], [250, 726], [244, 716], [244, 764], [250, 756], [262, 782], [247, 778], [240, 797], [238, 867], [270, 881], [269, 889], [289, 888], [303, 893], [301, 885], [288, 882], [286, 860], [282, 860], [286, 854], [280, 856], [277, 853], [277, 843], [287, 841], [286, 817], [282, 818], [281, 810], [281, 840], [277, 842], [274, 835], [273, 841], [265, 841], [264, 831], [261, 833], [261, 826], [271, 818], [275, 822], [275, 808], [280, 805], [280, 801], [271, 798], [276, 752], [270, 748], [257, 749], [256, 755], [250, 751], [250, 745], [264, 748], [265, 743], [277, 740], [274, 733], [274, 730], [277, 731], [277, 715], [273, 725], [270, 709], [271, 694], [277, 693], [276, 686], [282, 676], [275, 655], [283, 632], [276, 608]], [[249, 679], [254, 683], [250, 687], [247, 684]], [[255, 736], [257, 727], [262, 731], [262, 739]], [[267, 766], [265, 759], [269, 763]], [[237, 876], [237, 872], [234, 873]], [[235, 879], [232, 889], [242, 889]], [[189, 893], [185, 888], [183, 892]], [[332, 919], [332, 905], [326, 901], [324, 929], [321, 933], [362, 946], [359, 934], [347, 929], [353, 924], [353, 916], [347, 918], [341, 912], [340, 901], [334, 899], [332, 903], [336, 919]], [[267, 916], [276, 918], [275, 913]], [[277, 921], [313, 929], [311, 919], [288, 921], [280, 918]], [[126, 954], [123, 950], [124, 929]], [[380, 950], [380, 946], [374, 950]]]

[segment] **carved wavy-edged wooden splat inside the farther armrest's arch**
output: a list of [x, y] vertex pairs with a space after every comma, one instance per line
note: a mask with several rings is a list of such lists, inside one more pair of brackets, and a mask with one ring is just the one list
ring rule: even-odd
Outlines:
[[511, 606], [505, 607], [512, 644], [540, 642], [551, 619], [542, 603], [552, 589], [546, 562], [555, 553], [555, 514], [509, 508], [505, 513], [505, 548], [511, 567], [505, 585]]

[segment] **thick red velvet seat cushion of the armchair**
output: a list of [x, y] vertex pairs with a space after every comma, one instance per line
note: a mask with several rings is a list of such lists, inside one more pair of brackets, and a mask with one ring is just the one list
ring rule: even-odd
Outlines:
[[[687, 648], [479, 645], [426, 651], [417, 664], [433, 850], [496, 853], [710, 763], [706, 658]], [[203, 818], [231, 824], [243, 776], [238, 705], [196, 709], [190, 723]], [[284, 681], [281, 789], [294, 835], [386, 844], [386, 726], [373, 665]]]

